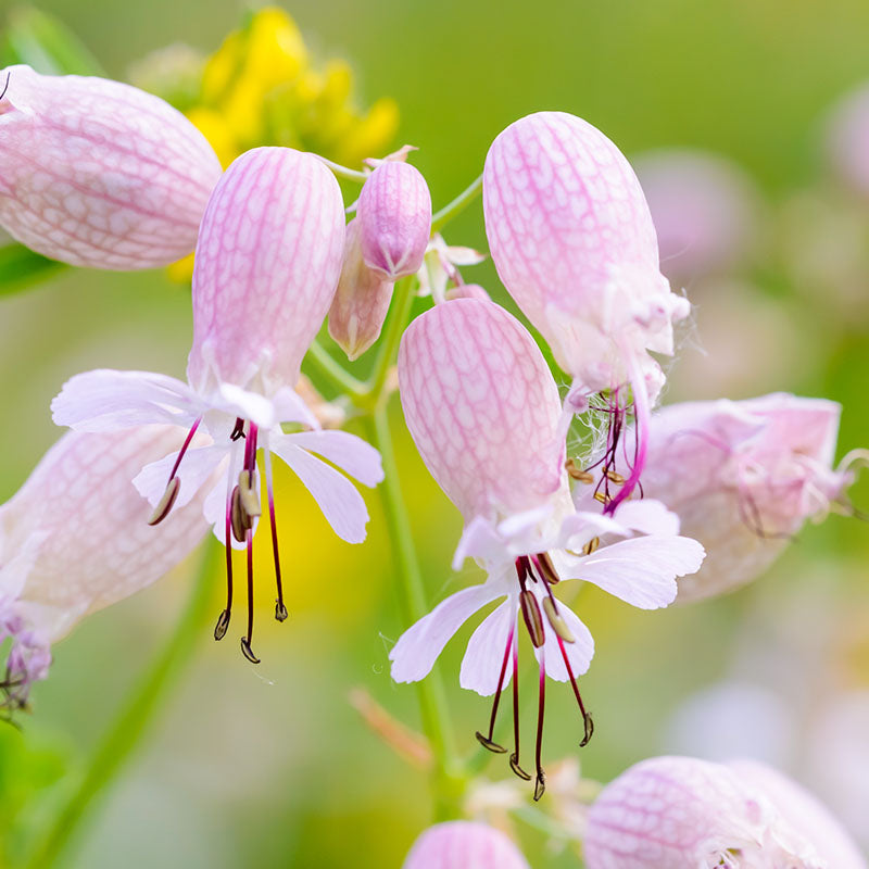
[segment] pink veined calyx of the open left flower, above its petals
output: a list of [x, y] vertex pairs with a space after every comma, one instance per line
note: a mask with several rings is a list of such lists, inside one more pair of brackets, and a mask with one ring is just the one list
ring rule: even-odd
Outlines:
[[313, 154], [256, 148], [209, 200], [193, 270], [190, 383], [266, 396], [293, 387], [338, 286], [344, 210], [335, 176]]

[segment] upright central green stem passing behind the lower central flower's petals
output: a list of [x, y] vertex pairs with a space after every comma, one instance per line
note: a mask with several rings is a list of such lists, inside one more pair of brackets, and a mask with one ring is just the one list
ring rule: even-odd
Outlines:
[[[383, 505], [390, 544], [399, 567], [399, 588], [402, 615], [406, 625], [413, 625], [427, 612], [423, 574], [414, 545], [407, 507], [401, 490], [389, 416], [381, 404], [365, 419], [369, 437], [380, 451], [385, 481], [378, 487]], [[436, 815], [438, 820], [459, 817], [458, 804], [464, 792], [464, 776], [453, 745], [452, 725], [448, 713], [446, 694], [436, 667], [417, 683], [423, 730], [434, 756]]]

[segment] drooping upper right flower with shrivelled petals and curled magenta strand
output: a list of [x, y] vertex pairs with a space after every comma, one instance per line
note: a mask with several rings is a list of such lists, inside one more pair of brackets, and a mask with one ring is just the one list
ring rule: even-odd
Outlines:
[[640, 182], [591, 124], [538, 112], [492, 142], [483, 212], [501, 280], [574, 377], [568, 408], [607, 394], [613, 454], [630, 387], [641, 437], [631, 474], [607, 505], [613, 513], [639, 480], [648, 408], [664, 380], [647, 351], [672, 354], [672, 323], [689, 310], [660, 274]]

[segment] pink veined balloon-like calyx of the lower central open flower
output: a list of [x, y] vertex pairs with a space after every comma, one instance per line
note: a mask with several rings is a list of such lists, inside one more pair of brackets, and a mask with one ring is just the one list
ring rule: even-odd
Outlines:
[[558, 390], [502, 307], [456, 299], [421, 314], [402, 338], [399, 383], [414, 442], [466, 519], [532, 509], [564, 484]]

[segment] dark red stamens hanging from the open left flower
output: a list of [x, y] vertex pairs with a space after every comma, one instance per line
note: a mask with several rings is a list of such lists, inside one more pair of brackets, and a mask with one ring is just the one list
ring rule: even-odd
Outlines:
[[[180, 478], [178, 468], [185, 453], [199, 427], [200, 419], [193, 423], [190, 431], [181, 445], [178, 456], [169, 474], [166, 490], [160, 503], [154, 507], [154, 512], [149, 519], [150, 525], [156, 525], [168, 516], [178, 498], [180, 489]], [[253, 653], [253, 531], [256, 519], [262, 515], [260, 493], [256, 490], [256, 449], [257, 449], [257, 427], [250, 420], [236, 419], [235, 427], [229, 434], [230, 441], [244, 440], [244, 458], [241, 471], [238, 475], [238, 482], [229, 491], [226, 500], [226, 606], [217, 618], [214, 627], [214, 639], [223, 640], [229, 628], [232, 614], [232, 546], [231, 539], [235, 538], [239, 543], [244, 543], [247, 549], [247, 572], [248, 572], [248, 630], [241, 638], [241, 652], [251, 664], [259, 664], [260, 658]], [[275, 618], [284, 621], [287, 618], [287, 607], [284, 604], [284, 588], [280, 576], [280, 555], [278, 551], [278, 531], [275, 516], [275, 499], [272, 491], [272, 471], [268, 451], [266, 450], [266, 488], [268, 495], [268, 517], [272, 527], [272, 550], [275, 559], [275, 582], [277, 585], [277, 599], [275, 601]]]

